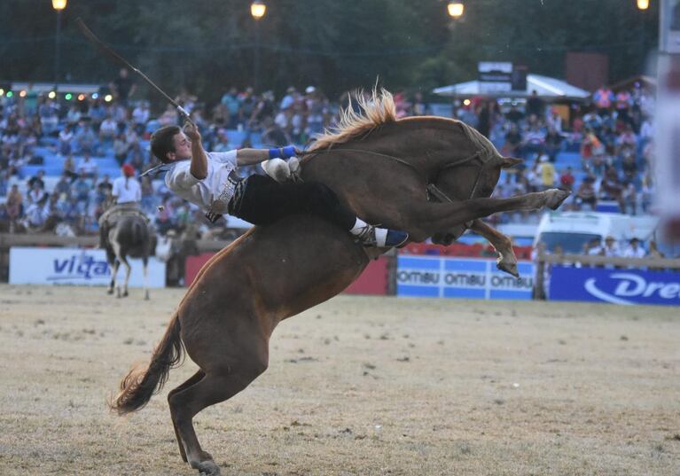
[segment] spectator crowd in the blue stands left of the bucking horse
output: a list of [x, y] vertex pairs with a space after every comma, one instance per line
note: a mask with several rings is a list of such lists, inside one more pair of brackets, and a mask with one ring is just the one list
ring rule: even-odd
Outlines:
[[[70, 101], [48, 94], [0, 97], [0, 231], [95, 234], [121, 166], [129, 164], [139, 175], [155, 165], [149, 138], [161, 126], [180, 124], [176, 109], [168, 105], [154, 114], [145, 99], [130, 97], [135, 88], [125, 70], [110, 88], [109, 101], [98, 94]], [[395, 99], [400, 116], [426, 112], [419, 95], [410, 103], [403, 95]], [[216, 152], [307, 144], [332, 124], [339, 110], [314, 86], [291, 87], [279, 99], [270, 91], [256, 95], [252, 88], [232, 88], [211, 107], [183, 91], [176, 102], [199, 125], [206, 150]], [[184, 230], [194, 219], [204, 223], [204, 235], [229, 233], [209, 225], [161, 180], [144, 176], [141, 185], [142, 208], [161, 234]]]

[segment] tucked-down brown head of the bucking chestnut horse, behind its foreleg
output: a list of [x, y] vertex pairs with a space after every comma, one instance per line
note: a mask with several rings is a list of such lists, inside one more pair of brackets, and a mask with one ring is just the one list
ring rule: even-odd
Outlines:
[[[457, 166], [442, 168], [434, 185], [452, 201], [488, 198], [496, 188], [503, 168], [522, 162], [520, 159], [503, 157], [493, 150], [486, 158], [478, 156]], [[448, 246], [467, 230], [465, 223], [449, 230], [442, 230], [432, 237], [437, 245]]]

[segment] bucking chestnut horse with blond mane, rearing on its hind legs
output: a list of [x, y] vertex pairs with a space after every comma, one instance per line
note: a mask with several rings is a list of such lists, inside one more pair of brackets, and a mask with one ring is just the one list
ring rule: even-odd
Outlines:
[[[345, 113], [336, 134], [319, 138], [301, 162], [301, 176], [328, 184], [369, 222], [408, 230], [418, 241], [447, 241], [482, 216], [556, 208], [567, 198], [567, 192], [543, 191], [489, 199], [501, 168], [516, 160], [501, 157], [458, 121], [397, 121], [384, 91], [363, 106], [361, 115]], [[438, 201], [428, 200], [428, 185]], [[199, 371], [168, 393], [179, 451], [199, 472], [219, 474], [200, 447], [192, 418], [262, 374], [277, 324], [340, 293], [361, 274], [368, 255], [379, 251], [364, 250], [348, 233], [312, 216], [255, 227], [201, 269], [149, 365], [133, 368], [121, 381], [113, 410], [143, 408], [185, 351]]]

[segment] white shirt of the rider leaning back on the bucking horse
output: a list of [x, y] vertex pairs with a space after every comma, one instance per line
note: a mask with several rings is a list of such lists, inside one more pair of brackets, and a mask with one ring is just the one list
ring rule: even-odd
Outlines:
[[204, 210], [227, 213], [227, 204], [234, 194], [230, 173], [237, 168], [236, 151], [206, 152], [207, 176], [199, 180], [191, 175], [191, 160], [176, 162], [165, 176], [171, 191]]

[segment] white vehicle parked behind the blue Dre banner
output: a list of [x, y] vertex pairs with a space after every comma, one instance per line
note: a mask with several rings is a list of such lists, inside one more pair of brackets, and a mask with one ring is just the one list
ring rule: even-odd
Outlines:
[[612, 236], [617, 241], [653, 238], [659, 218], [651, 215], [630, 216], [596, 212], [550, 212], [538, 223], [534, 246], [543, 242], [548, 251], [561, 246], [563, 253], [580, 254], [593, 239], [601, 243]]

